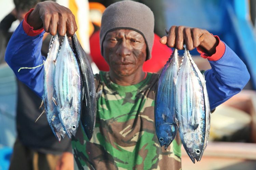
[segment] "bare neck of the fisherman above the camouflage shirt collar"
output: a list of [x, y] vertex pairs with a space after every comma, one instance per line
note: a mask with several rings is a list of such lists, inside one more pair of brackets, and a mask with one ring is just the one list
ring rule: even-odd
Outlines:
[[140, 71], [136, 71], [131, 75], [122, 76], [122, 75], [117, 75], [114, 71], [110, 70], [109, 76], [110, 76], [110, 80], [115, 84], [118, 84], [121, 86], [130, 86], [133, 84], [140, 83], [145, 77], [145, 72], [143, 72], [141, 69]]

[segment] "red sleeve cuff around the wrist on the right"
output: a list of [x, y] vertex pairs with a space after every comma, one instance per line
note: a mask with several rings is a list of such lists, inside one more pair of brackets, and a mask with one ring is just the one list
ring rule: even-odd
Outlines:
[[216, 52], [211, 56], [205, 53], [205, 50], [202, 47], [197, 47], [197, 51], [201, 54], [201, 57], [207, 58], [209, 61], [217, 61], [219, 60], [225, 53], [225, 44], [219, 39], [217, 35], [214, 36], [219, 41], [219, 44], [216, 47]]

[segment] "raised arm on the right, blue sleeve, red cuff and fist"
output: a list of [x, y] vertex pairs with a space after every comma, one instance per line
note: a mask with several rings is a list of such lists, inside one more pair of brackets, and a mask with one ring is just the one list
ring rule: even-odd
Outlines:
[[240, 92], [250, 79], [245, 64], [236, 53], [207, 30], [172, 26], [160, 42], [179, 50], [184, 43], [188, 50], [197, 48], [201, 56], [208, 59], [212, 69], [204, 74], [211, 109]]

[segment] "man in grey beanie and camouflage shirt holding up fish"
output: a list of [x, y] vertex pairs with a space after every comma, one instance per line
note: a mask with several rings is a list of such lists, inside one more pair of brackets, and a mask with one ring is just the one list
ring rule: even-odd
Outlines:
[[[43, 30], [72, 36], [77, 30], [73, 14], [53, 2], [37, 4], [26, 14], [6, 50], [5, 60], [17, 77], [43, 95], [44, 68], [17, 72], [20, 67], [42, 64], [39, 45]], [[160, 148], [154, 124], [154, 99], [158, 74], [146, 73], [142, 65], [151, 58], [154, 16], [150, 8], [120, 1], [106, 8], [101, 23], [101, 53], [109, 72], [95, 75], [96, 127], [88, 141], [81, 126], [72, 139], [76, 169], [180, 169], [179, 135], [167, 150]], [[205, 72], [211, 109], [237, 94], [250, 79], [239, 57], [217, 36], [206, 30], [172, 26], [162, 44], [179, 50], [197, 48], [212, 69]], [[15, 50], [13, 50], [15, 49]], [[26, 55], [24, 55], [26, 54]]]

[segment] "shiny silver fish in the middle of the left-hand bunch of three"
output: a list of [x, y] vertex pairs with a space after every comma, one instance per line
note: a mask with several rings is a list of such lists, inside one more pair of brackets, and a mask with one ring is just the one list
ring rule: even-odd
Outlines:
[[80, 122], [82, 106], [82, 80], [75, 54], [67, 35], [64, 36], [54, 77], [53, 101], [57, 106], [60, 123], [69, 138], [75, 136]]

